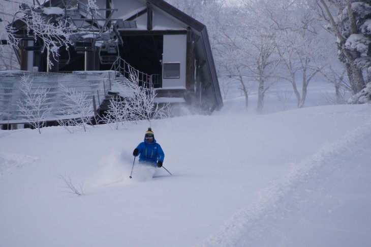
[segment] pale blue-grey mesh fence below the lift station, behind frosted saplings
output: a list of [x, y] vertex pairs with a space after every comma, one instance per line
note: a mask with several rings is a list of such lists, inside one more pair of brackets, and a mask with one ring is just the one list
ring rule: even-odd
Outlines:
[[[103, 102], [111, 89], [111, 80], [115, 71], [76, 71], [74, 73], [47, 73], [28, 71], [0, 71], [0, 124], [26, 123], [18, 109], [17, 102], [22, 100], [20, 91], [21, 76], [29, 76], [32, 90], [45, 88], [47, 100], [45, 104], [52, 110], [46, 121], [60, 119], [63, 104], [64, 89], [75, 88], [76, 92], [84, 92], [91, 98], [91, 107], [97, 107]], [[95, 100], [95, 102], [94, 102]]]

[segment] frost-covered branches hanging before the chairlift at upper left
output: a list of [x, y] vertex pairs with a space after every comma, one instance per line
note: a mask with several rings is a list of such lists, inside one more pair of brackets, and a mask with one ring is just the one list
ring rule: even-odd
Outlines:
[[[14, 3], [9, 3], [14, 6]], [[6, 40], [14, 49], [18, 49], [21, 38], [15, 35], [17, 30], [12, 23], [23, 23], [22, 29], [25, 29], [28, 35], [34, 36], [34, 41], [42, 46], [42, 52], [47, 52], [47, 64], [52, 68], [58, 60], [59, 49], [68, 49], [75, 42], [72, 38], [73, 32], [76, 31], [74, 22], [69, 21], [64, 15], [65, 9], [62, 8], [35, 5], [32, 0], [19, 0], [16, 3], [18, 10], [0, 6], [0, 16], [5, 16], [7, 20], [0, 22], [0, 38]], [[99, 7], [96, 0], [87, 0], [87, 9], [90, 13], [97, 13]]]

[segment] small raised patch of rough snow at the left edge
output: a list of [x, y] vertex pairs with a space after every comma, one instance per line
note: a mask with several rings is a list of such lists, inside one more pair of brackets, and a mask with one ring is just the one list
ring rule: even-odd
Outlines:
[[17, 169], [38, 159], [37, 157], [28, 155], [0, 153], [0, 181], [3, 180], [2, 178], [11, 175]]

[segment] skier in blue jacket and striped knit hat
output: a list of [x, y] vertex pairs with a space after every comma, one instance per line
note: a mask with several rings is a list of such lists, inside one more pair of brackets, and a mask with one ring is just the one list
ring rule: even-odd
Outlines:
[[137, 148], [134, 149], [133, 155], [139, 155], [139, 163], [146, 163], [159, 168], [162, 167], [165, 154], [160, 144], [154, 139], [151, 128], [148, 128], [145, 132], [144, 142], [140, 143]]

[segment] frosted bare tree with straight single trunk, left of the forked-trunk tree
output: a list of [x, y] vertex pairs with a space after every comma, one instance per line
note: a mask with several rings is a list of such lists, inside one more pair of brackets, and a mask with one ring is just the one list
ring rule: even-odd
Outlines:
[[236, 31], [243, 47], [241, 62], [245, 64], [245, 73], [258, 87], [258, 113], [263, 112], [265, 93], [277, 81], [276, 68], [281, 60], [275, 53], [275, 31], [266, 17], [265, 4], [261, 0], [244, 1], [236, 22], [241, 23]]

